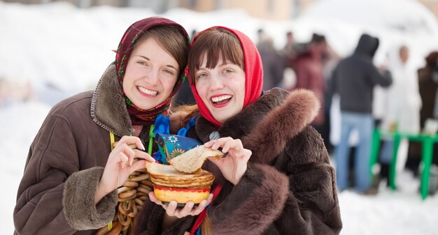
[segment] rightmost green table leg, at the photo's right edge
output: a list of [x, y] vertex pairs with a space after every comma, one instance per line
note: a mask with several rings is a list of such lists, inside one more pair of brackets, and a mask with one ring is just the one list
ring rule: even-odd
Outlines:
[[433, 141], [427, 137], [423, 141], [422, 149], [423, 172], [421, 172], [421, 198], [424, 200], [428, 197], [430, 164], [432, 164]]

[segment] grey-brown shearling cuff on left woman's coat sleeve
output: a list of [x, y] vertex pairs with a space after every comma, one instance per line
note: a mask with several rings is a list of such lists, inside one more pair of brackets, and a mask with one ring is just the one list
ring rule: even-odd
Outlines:
[[103, 167], [93, 167], [75, 172], [66, 180], [62, 206], [64, 216], [73, 229], [99, 229], [113, 220], [117, 190], [94, 205], [94, 194], [103, 173]]

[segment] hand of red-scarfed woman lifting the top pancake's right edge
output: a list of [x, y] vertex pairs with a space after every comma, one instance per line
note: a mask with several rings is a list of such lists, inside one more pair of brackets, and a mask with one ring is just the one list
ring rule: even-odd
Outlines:
[[219, 167], [225, 179], [234, 185], [239, 183], [246, 172], [247, 163], [252, 154], [249, 149], [243, 148], [241, 140], [225, 137], [206, 142], [204, 146], [211, 149], [222, 148], [222, 153], [228, 153], [225, 158], [209, 158], [209, 160]]

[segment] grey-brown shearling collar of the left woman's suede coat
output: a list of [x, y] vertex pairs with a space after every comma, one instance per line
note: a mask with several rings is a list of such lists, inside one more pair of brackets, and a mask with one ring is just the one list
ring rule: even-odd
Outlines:
[[106, 68], [99, 80], [93, 93], [90, 111], [93, 121], [105, 130], [119, 137], [131, 135], [131, 119], [114, 63]]

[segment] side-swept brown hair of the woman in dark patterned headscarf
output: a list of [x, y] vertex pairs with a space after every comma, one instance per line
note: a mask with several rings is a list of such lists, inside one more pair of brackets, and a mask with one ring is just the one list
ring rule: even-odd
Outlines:
[[178, 77], [181, 77], [187, 66], [189, 41], [185, 37], [183, 29], [176, 25], [157, 25], [150, 27], [143, 35], [136, 40], [134, 47], [142, 43], [148, 38], [153, 38], [155, 41], [178, 63]]

